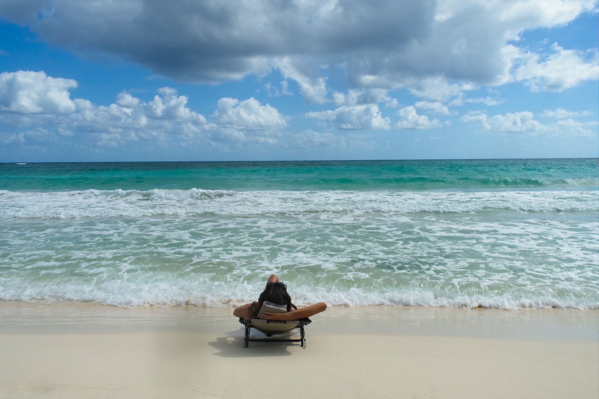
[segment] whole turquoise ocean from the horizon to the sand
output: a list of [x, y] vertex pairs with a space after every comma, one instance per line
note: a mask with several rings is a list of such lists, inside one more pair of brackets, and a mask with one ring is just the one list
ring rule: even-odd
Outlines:
[[599, 309], [597, 159], [0, 164], [0, 300]]

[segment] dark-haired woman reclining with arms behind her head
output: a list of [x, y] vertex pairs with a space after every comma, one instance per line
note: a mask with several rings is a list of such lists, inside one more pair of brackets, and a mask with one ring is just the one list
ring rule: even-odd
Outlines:
[[294, 304], [291, 303], [291, 297], [287, 293], [287, 286], [279, 281], [277, 275], [271, 275], [268, 278], [264, 291], [262, 291], [262, 294], [258, 298], [258, 302], [241, 305], [234, 310], [233, 315], [242, 319], [256, 319], [264, 301], [287, 306], [287, 313], [262, 313], [260, 318], [266, 320], [298, 320], [316, 315], [316, 313], [323, 312], [326, 309], [326, 303], [324, 302], [295, 309]]

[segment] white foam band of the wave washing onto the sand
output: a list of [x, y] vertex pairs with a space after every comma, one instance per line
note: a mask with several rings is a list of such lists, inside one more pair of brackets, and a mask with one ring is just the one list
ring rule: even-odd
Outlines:
[[[175, 284], [176, 283], [176, 284]], [[224, 284], [202, 284], [190, 281], [162, 282], [105, 282], [88, 284], [43, 284], [20, 285], [2, 281], [2, 300], [72, 300], [110, 304], [121, 307], [180, 306], [195, 305], [205, 307], [239, 306], [258, 298], [264, 283], [256, 285], [240, 284], [228, 287]], [[292, 300], [297, 306], [307, 306], [319, 301], [340, 306], [437, 306], [437, 307], [488, 307], [497, 309], [599, 309], [597, 297], [556, 297], [551, 291], [530, 291], [525, 295], [509, 292], [497, 295], [465, 295], [458, 290], [453, 295], [440, 290], [404, 289], [368, 291], [363, 288], [347, 290], [314, 290], [313, 287], [290, 285]]]

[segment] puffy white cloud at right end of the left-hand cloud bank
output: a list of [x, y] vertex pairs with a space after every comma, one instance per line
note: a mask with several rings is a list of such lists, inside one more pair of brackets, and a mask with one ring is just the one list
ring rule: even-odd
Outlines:
[[251, 97], [244, 101], [235, 98], [219, 100], [214, 120], [220, 126], [233, 129], [279, 129], [287, 126], [285, 117], [270, 105], [261, 105]]

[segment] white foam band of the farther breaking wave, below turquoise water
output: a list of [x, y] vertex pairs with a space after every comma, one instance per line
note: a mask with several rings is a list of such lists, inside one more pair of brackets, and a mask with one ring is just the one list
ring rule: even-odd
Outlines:
[[310, 212], [597, 211], [597, 191], [0, 191], [2, 218], [252, 215]]

